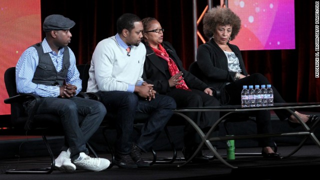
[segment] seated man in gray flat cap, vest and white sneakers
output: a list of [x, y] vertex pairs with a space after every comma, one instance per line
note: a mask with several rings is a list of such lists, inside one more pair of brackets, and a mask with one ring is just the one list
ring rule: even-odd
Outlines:
[[[62, 172], [100, 171], [109, 166], [109, 160], [88, 156], [85, 143], [99, 127], [106, 110], [96, 100], [76, 96], [82, 81], [74, 53], [67, 46], [72, 36], [70, 28], [74, 25], [73, 20], [63, 15], [45, 17], [45, 38], [28, 47], [16, 63], [16, 87], [18, 93], [42, 97], [36, 114], [51, 113], [60, 117], [65, 145], [55, 159], [55, 168]], [[26, 112], [32, 105], [32, 101], [24, 102]]]

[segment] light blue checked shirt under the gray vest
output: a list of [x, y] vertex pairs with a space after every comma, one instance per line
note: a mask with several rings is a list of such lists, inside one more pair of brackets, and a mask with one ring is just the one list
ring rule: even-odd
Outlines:
[[[64, 48], [60, 48], [58, 53], [51, 50], [46, 38], [42, 41], [42, 48], [44, 53], [49, 53], [52, 62], [57, 71], [62, 68], [63, 51]], [[69, 47], [68, 47], [69, 48]], [[75, 66], [75, 56], [72, 50], [69, 48], [69, 60], [70, 66], [68, 68], [65, 83], [75, 85], [77, 87], [76, 94], [82, 89], [82, 81], [79, 78], [79, 71]], [[39, 57], [34, 47], [28, 47], [20, 56], [15, 66], [15, 81], [16, 90], [18, 93], [34, 93], [42, 97], [57, 97], [60, 94], [58, 86], [36, 84], [32, 82], [32, 78], [39, 63]]]

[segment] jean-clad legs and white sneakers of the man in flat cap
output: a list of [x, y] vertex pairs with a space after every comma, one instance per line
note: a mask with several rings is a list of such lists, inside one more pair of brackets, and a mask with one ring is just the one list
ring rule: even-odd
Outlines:
[[[83, 102], [81, 100], [83, 100]], [[85, 105], [76, 105], [75, 103], [78, 103], [78, 101]], [[68, 144], [68, 146], [62, 147], [62, 151], [56, 160], [57, 169], [63, 172], [74, 172], [75, 165], [76, 168], [82, 170], [100, 171], [109, 166], [110, 162], [107, 159], [91, 158], [86, 155], [88, 154], [88, 149], [85, 143], [99, 127], [102, 117], [106, 113], [105, 108], [101, 105], [100, 102], [80, 97], [72, 97], [70, 99], [55, 97], [41, 98], [38, 111], [42, 113], [58, 113], [60, 115], [64, 136], [67, 140], [66, 144]], [[88, 113], [89, 116], [84, 116], [81, 123], [78, 118], [78, 106], [81, 106], [80, 109], [84, 112], [82, 115]], [[93, 114], [90, 115], [90, 113]], [[91, 119], [91, 116], [93, 116], [93, 119]], [[82, 130], [87, 133], [85, 136]], [[81, 161], [79, 161], [78, 158], [80, 158]]]

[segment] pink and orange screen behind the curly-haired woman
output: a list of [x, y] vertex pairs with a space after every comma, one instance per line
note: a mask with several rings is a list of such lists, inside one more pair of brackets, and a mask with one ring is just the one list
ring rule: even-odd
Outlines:
[[240, 50], [294, 49], [294, 0], [229, 0], [241, 19], [241, 29], [230, 43]]

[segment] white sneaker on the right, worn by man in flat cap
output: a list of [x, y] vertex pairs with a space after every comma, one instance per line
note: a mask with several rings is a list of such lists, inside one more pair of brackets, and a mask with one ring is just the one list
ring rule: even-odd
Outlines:
[[73, 161], [76, 168], [81, 170], [100, 171], [106, 169], [110, 165], [110, 161], [105, 158], [93, 158], [80, 152], [77, 159]]

